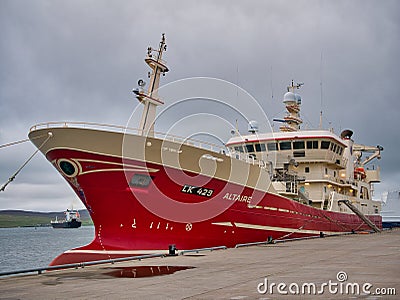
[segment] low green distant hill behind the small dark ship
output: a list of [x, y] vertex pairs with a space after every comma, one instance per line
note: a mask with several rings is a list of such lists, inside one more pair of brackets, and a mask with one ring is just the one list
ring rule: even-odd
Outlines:
[[[89, 212], [86, 209], [79, 210], [82, 225], [93, 224]], [[59, 212], [38, 212], [26, 210], [0, 210], [0, 228], [8, 227], [30, 227], [50, 226], [50, 221], [55, 218], [63, 219], [63, 211]]]

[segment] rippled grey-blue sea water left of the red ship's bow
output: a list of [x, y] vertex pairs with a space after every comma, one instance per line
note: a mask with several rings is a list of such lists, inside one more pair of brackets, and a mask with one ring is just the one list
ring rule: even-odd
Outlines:
[[0, 228], [0, 272], [46, 267], [57, 255], [93, 238], [94, 226]]

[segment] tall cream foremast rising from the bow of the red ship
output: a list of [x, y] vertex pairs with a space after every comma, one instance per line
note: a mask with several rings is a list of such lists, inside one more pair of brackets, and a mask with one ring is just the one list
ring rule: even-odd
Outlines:
[[139, 124], [141, 135], [154, 136], [156, 108], [158, 105], [164, 104], [164, 102], [158, 98], [158, 88], [160, 86], [161, 74], [165, 75], [165, 73], [169, 71], [166, 62], [162, 60], [163, 52], [166, 50], [167, 45], [165, 44], [165, 34], [163, 33], [158, 50], [148, 47], [147, 56], [144, 59], [151, 68], [151, 72], [149, 72], [150, 84], [147, 92], [143, 90], [146, 83], [142, 79], [138, 81], [139, 88], [133, 91], [137, 95], [136, 98], [139, 102], [144, 105], [142, 118]]

